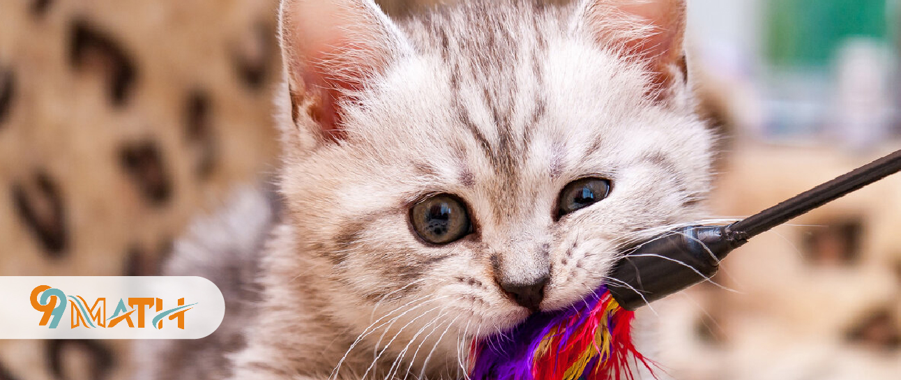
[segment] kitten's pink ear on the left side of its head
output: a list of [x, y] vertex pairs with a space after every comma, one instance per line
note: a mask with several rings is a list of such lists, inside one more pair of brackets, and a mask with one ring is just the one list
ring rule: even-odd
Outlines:
[[405, 46], [372, 0], [282, 0], [279, 32], [291, 118], [321, 141], [343, 138], [341, 106]]

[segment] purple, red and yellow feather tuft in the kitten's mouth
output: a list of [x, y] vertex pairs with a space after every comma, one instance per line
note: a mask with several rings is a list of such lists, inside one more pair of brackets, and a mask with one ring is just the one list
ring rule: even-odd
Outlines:
[[634, 312], [602, 286], [558, 312], [537, 312], [513, 330], [473, 342], [471, 380], [606, 380], [633, 378], [651, 361], [633, 345]]

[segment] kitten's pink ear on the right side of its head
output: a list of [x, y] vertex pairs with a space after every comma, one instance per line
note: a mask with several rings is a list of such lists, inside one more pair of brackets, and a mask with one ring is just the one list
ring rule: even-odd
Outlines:
[[659, 98], [687, 81], [686, 0], [583, 0], [578, 17], [598, 43], [646, 60]]

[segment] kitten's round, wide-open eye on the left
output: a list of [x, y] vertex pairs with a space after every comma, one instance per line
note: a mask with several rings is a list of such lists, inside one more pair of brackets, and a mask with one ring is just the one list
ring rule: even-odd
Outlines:
[[451, 195], [435, 195], [410, 210], [413, 229], [432, 244], [447, 244], [472, 231], [466, 206]]

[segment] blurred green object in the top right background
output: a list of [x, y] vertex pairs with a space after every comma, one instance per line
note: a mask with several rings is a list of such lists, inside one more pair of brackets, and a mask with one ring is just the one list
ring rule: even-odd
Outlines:
[[889, 39], [887, 0], [769, 0], [767, 58], [782, 68], [824, 67], [849, 37]]

